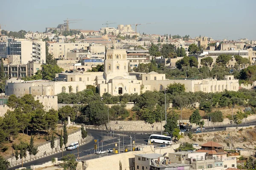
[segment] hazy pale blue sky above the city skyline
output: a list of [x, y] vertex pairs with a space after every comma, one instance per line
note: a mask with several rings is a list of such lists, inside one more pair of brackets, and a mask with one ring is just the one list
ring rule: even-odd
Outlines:
[[79, 20], [70, 29], [154, 23], [137, 32], [256, 40], [256, 0], [3, 0], [1, 6], [0, 24], [8, 31], [44, 32], [70, 18]]

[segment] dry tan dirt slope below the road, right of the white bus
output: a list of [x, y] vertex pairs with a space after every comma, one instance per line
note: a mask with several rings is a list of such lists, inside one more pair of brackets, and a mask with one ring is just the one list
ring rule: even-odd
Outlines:
[[[231, 148], [231, 143], [233, 147], [243, 147], [247, 149], [254, 149], [256, 147], [256, 129], [235, 129], [233, 131], [218, 131], [218, 132], [208, 132], [200, 134], [192, 134], [190, 139], [188, 135], [184, 135], [180, 138], [179, 142], [189, 142], [195, 144], [205, 144], [208, 141], [214, 141], [221, 144], [225, 149]], [[232, 142], [231, 142], [232, 141]]]

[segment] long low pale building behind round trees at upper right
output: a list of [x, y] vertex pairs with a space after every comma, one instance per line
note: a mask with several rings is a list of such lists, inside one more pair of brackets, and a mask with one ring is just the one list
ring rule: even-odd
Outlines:
[[[212, 64], [209, 66], [209, 69], [211, 70], [214, 68], [216, 64], [216, 59], [218, 58], [219, 55], [225, 54], [225, 55], [230, 55], [232, 56], [232, 59], [227, 63], [227, 68], [233, 68], [236, 64], [236, 60], [234, 58], [234, 55], [241, 55], [243, 58], [249, 58], [249, 51], [248, 50], [222, 50], [222, 51], [208, 51], [205, 52], [204, 56], [198, 56], [198, 69], [201, 68], [203, 65], [201, 65], [201, 60], [203, 58], [211, 57], [213, 59]], [[246, 65], [248, 66], [248, 65]]]

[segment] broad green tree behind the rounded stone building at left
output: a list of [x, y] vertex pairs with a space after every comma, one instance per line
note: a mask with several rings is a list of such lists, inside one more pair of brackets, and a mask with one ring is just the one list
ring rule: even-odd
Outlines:
[[42, 65], [42, 70], [38, 70], [38, 72], [42, 73], [43, 80], [53, 80], [55, 78], [55, 74], [61, 73], [62, 71], [62, 68], [52, 64]]

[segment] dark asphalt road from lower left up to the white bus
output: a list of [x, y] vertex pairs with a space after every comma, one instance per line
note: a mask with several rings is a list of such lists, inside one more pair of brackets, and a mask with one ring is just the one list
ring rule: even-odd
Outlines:
[[[98, 139], [99, 140], [99, 150], [102, 150], [102, 144], [100, 142], [102, 140], [102, 136], [103, 136], [103, 139], [105, 139], [105, 141], [103, 142], [103, 150], [107, 150], [108, 148], [114, 148], [115, 147], [115, 143], [118, 143], [118, 135], [116, 135], [116, 134], [121, 134], [122, 133], [120, 135], [120, 151], [121, 151], [121, 153], [123, 152], [123, 143], [124, 143], [124, 146], [128, 147], [128, 150], [131, 150], [130, 135], [133, 138], [132, 140], [134, 140], [134, 137], [135, 137], [136, 144], [145, 144], [145, 142], [148, 141], [148, 138], [149, 138], [149, 135], [150, 135], [150, 134], [134, 134], [134, 133], [126, 133], [126, 132], [123, 133], [123, 132], [120, 132], [120, 131], [116, 131], [116, 132], [114, 132], [115, 135], [114, 135], [114, 138], [113, 138], [113, 137], [110, 136], [110, 134], [107, 134], [106, 130], [101, 131], [101, 130], [87, 129], [87, 131], [89, 133], [91, 133], [91, 135], [93, 136], [93, 139]], [[108, 137], [107, 137], [108, 135], [109, 135], [109, 140], [108, 140]], [[99, 157], [99, 155], [94, 154], [94, 149], [93, 149], [94, 144], [95, 144], [94, 141], [90, 141], [87, 144], [81, 145], [79, 147], [79, 157], [84, 157], [85, 156], [85, 157], [87, 157], [86, 159]], [[77, 149], [72, 150], [72, 151], [65, 150], [63, 152], [63, 156], [65, 156], [67, 154], [70, 154], [70, 153], [77, 156], [78, 155], [78, 150]], [[90, 153], [92, 153], [91, 156], [90, 156]], [[89, 156], [87, 156], [87, 155], [89, 155]], [[102, 155], [105, 156], [107, 154], [105, 154], [105, 155], [102, 154]], [[30, 167], [30, 165], [32, 165], [32, 164], [33, 165], [43, 164], [47, 161], [51, 161], [52, 157], [55, 157], [55, 158], [58, 158], [58, 160], [61, 160], [62, 153], [56, 153], [56, 154], [53, 154], [53, 155], [50, 155], [50, 156], [46, 156], [44, 158], [39, 158], [37, 160], [24, 163], [23, 167]], [[9, 170], [14, 170], [14, 169], [19, 168], [19, 167], [21, 167], [21, 164], [15, 166], [15, 167], [9, 168]]]

